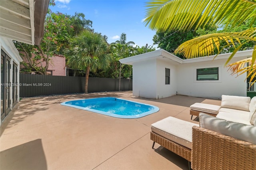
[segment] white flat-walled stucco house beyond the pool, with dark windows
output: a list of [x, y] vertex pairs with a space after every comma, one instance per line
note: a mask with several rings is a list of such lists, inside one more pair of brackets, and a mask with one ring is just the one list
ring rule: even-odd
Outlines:
[[[246, 96], [246, 74], [236, 76], [224, 67], [231, 53], [181, 59], [164, 49], [120, 59], [132, 65], [132, 91], [137, 97], [160, 99], [172, 95], [220, 98]], [[252, 50], [238, 51], [230, 63], [252, 56]]]

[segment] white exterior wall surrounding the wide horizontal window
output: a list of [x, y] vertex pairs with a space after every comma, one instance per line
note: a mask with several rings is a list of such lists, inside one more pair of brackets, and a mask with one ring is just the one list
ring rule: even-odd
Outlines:
[[[233, 58], [230, 63], [245, 59], [246, 57]], [[181, 64], [177, 67], [178, 94], [195, 97], [221, 98], [221, 95], [246, 96], [246, 74], [230, 75], [224, 63], [227, 59], [214, 59], [213, 61], [201, 61]], [[207, 67], [219, 67], [219, 80], [196, 81], [196, 69]]]

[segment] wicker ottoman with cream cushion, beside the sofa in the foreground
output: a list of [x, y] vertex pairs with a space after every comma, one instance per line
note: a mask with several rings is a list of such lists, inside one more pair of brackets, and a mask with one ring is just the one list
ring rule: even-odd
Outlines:
[[167, 117], [151, 125], [150, 139], [188, 160], [190, 169], [192, 127], [195, 123], [183, 121], [175, 117]]

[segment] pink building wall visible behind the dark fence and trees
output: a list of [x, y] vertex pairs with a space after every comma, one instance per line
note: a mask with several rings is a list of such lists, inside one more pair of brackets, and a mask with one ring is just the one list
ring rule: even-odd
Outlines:
[[[34, 54], [32, 54], [34, 56]], [[21, 56], [23, 61], [28, 63], [28, 60]], [[49, 67], [48, 67], [48, 73], [52, 71], [52, 75], [60, 75], [60, 76], [66, 76], [66, 58], [63, 55], [53, 55], [50, 58]], [[42, 60], [42, 66], [45, 66], [45, 62]], [[38, 64], [39, 66], [40, 64]]]

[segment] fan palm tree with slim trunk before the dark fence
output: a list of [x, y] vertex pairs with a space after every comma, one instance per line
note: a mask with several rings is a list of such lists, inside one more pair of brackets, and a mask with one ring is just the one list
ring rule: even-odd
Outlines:
[[107, 54], [108, 45], [104, 38], [97, 33], [84, 30], [70, 41], [70, 48], [66, 51], [68, 65], [76, 69], [86, 69], [84, 91], [88, 93], [88, 79], [90, 69], [106, 69], [110, 63]]

